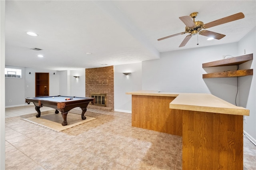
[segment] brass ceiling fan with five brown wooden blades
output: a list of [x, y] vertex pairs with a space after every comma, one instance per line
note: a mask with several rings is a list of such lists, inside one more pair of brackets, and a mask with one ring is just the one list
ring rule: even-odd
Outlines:
[[[219, 33], [212, 32], [212, 31], [208, 31], [208, 30], [203, 30], [203, 29], [211, 28], [211, 27], [214, 27], [214, 26], [218, 26], [220, 24], [225, 24], [225, 23], [228, 23], [228, 22], [232, 22], [232, 21], [244, 18], [244, 14], [242, 12], [239, 12], [237, 14], [227, 16], [227, 17], [209, 22], [207, 24], [204, 24], [202, 21], [195, 21], [195, 18], [196, 18], [197, 15], [198, 15], [198, 12], [193, 12], [192, 14], [190, 14], [190, 16], [181, 16], [181, 17], [179, 17], [180, 20], [186, 25], [185, 32], [181, 32], [181, 33], [178, 33], [178, 34], [174, 34], [174, 35], [171, 35], [171, 36], [160, 38], [160, 39], [158, 39], [158, 41], [164, 40], [166, 38], [186, 34], [186, 33], [189, 33], [189, 35], [185, 37], [185, 39], [182, 41], [182, 43], [180, 44], [179, 47], [184, 47], [186, 45], [186, 43], [188, 42], [188, 40], [190, 40], [190, 38], [192, 36], [197, 35], [197, 34], [220, 40], [223, 37], [225, 37], [226, 35], [219, 34]], [[193, 20], [191, 18], [193, 18]]]

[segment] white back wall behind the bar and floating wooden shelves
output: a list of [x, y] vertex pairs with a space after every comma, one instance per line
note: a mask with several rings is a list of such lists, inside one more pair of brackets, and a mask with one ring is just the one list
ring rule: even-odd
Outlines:
[[[234, 104], [236, 78], [202, 79], [202, 74], [213, 71], [202, 68], [202, 63], [223, 59], [223, 55], [236, 56], [236, 54], [237, 43], [161, 53], [160, 59], [142, 62], [142, 89], [177, 93], [212, 93]], [[229, 68], [214, 68], [216, 69]]]

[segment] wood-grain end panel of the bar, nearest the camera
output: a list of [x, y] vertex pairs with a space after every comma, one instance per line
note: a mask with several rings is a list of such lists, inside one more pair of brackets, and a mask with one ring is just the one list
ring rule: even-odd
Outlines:
[[243, 116], [183, 111], [183, 169], [243, 169]]

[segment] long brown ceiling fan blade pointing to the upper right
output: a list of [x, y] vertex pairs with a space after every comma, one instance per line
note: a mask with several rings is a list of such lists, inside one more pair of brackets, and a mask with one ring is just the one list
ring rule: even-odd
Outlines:
[[221, 19], [209, 22], [207, 24], [204, 24], [202, 26], [202, 28], [211, 28], [211, 27], [214, 27], [214, 26], [218, 26], [220, 24], [225, 24], [227, 22], [232, 22], [232, 21], [235, 21], [235, 20], [240, 20], [242, 18], [244, 18], [244, 14], [242, 12], [239, 12], [237, 14], [234, 14], [234, 15], [231, 15], [231, 16], [227, 16], [227, 17], [224, 17], [224, 18], [221, 18]]

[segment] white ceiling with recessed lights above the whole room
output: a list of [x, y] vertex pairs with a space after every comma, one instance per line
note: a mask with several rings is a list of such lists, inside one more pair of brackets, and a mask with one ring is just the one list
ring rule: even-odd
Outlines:
[[[166, 51], [238, 42], [255, 27], [255, 11], [255, 0], [6, 0], [6, 65], [52, 70], [105, 67], [158, 59]], [[179, 17], [192, 12], [198, 12], [196, 21], [204, 24], [238, 12], [245, 18], [207, 29], [225, 34], [221, 40], [199, 35], [178, 47], [188, 35], [184, 34], [157, 41], [184, 32]], [[43, 50], [31, 50], [34, 47]]]

